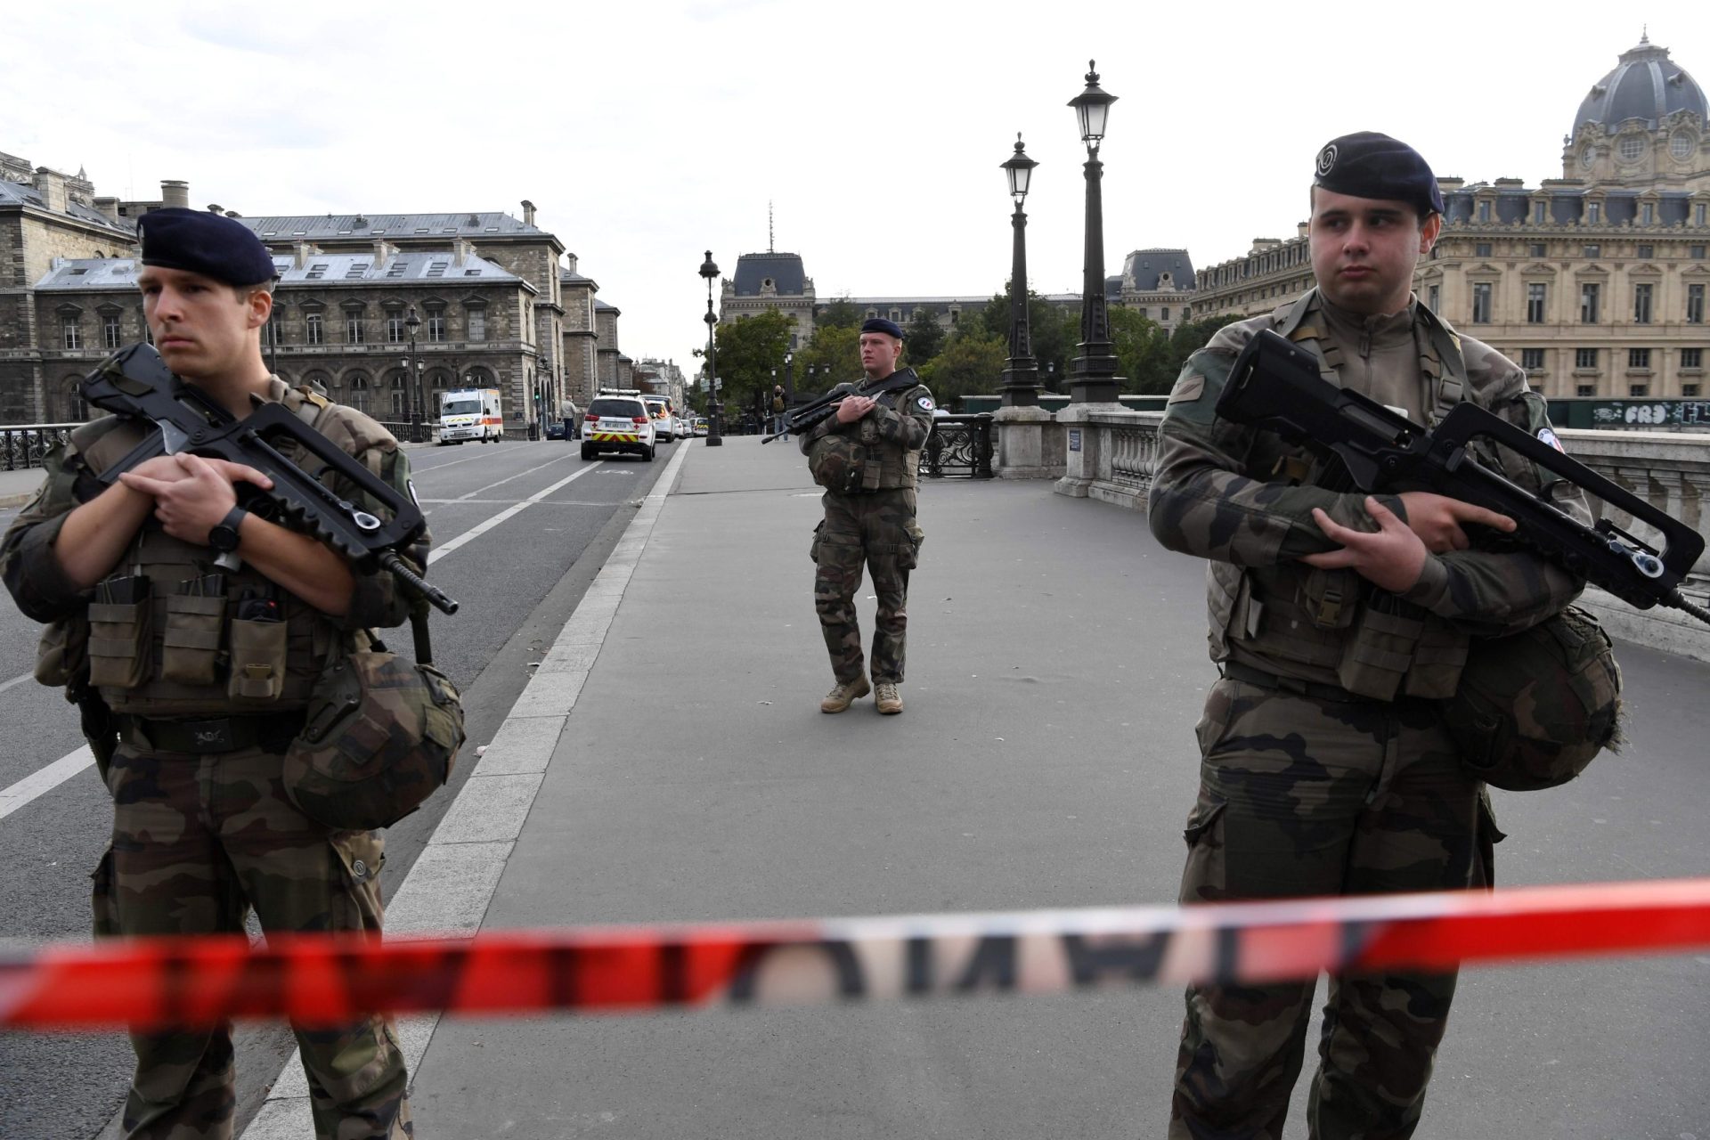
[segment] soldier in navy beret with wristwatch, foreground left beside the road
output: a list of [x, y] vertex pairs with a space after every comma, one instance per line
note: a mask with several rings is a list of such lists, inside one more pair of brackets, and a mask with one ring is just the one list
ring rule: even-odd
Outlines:
[[[274, 261], [215, 214], [157, 210], [142, 229], [144, 316], [166, 364], [234, 415], [299, 412], [371, 472], [409, 491], [397, 441], [366, 415], [287, 388], [262, 362]], [[282, 754], [321, 667], [356, 629], [407, 617], [390, 574], [236, 506], [260, 472], [157, 456], [97, 475], [145, 438], [104, 417], [46, 460], [46, 482], [0, 542], [19, 608], [51, 622], [38, 679], [84, 694], [84, 726], [113, 795], [113, 843], [94, 873], [94, 928], [115, 935], [265, 931], [380, 937], [378, 832], [330, 831], [286, 796]], [[335, 475], [368, 511], [380, 504]], [[412, 550], [426, 562], [426, 535]], [[236, 555], [236, 569], [215, 555]], [[104, 702], [104, 706], [103, 706]], [[231, 1137], [229, 1025], [132, 1034], [125, 1135]], [[404, 1056], [388, 1020], [299, 1029], [315, 1130], [327, 1140], [410, 1135]]]

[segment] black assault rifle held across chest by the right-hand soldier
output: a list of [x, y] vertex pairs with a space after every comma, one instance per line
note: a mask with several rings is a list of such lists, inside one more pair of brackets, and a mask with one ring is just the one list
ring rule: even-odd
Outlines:
[[[1710, 610], [1679, 591], [1705, 549], [1698, 532], [1476, 403], [1457, 403], [1428, 431], [1370, 397], [1325, 383], [1312, 352], [1264, 330], [1235, 357], [1218, 415], [1334, 453], [1361, 491], [1433, 491], [1507, 514], [1517, 523], [1508, 540], [1642, 610], [1667, 605], [1710, 624]], [[1551, 502], [1548, 484], [1534, 494], [1481, 465], [1469, 448], [1474, 439], [1517, 451], [1624, 511], [1654, 528], [1662, 549], [1621, 530], [1607, 514], [1583, 526]]]

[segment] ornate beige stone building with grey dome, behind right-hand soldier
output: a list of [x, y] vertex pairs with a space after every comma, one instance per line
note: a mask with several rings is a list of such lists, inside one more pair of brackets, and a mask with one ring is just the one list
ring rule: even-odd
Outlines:
[[[1642, 39], [1592, 84], [1561, 178], [1440, 178], [1443, 232], [1414, 291], [1549, 397], [1705, 395], [1710, 116]], [[1274, 309], [1312, 285], [1305, 226], [1199, 273], [1200, 314]]]

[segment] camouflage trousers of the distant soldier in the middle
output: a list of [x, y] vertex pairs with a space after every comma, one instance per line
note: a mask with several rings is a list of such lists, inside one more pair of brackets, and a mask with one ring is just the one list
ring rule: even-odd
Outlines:
[[908, 632], [908, 571], [915, 567], [923, 538], [915, 523], [915, 489], [821, 497], [826, 518], [814, 532], [814, 608], [831, 653], [838, 684], [862, 675], [860, 624], [855, 591], [862, 566], [872, 574], [877, 595], [872, 634], [872, 680], [901, 684]]

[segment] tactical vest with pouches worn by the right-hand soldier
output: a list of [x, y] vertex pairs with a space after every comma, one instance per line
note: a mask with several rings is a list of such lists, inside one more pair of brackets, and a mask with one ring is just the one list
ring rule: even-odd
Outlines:
[[[1272, 328], [1318, 357], [1327, 383], [1341, 385], [1341, 352], [1329, 340], [1313, 289], [1271, 316]], [[1431, 381], [1428, 422], [1435, 427], [1469, 391], [1460, 340], [1430, 309], [1416, 306], [1419, 371]], [[1269, 455], [1265, 458], [1271, 458]], [[1306, 448], [1281, 450], [1259, 479], [1318, 484], [1327, 465]], [[1448, 622], [1395, 595], [1373, 590], [1351, 569], [1303, 564], [1240, 567], [1209, 564], [1211, 656], [1224, 661], [1247, 649], [1265, 661], [1294, 665], [1303, 680], [1334, 680], [1353, 694], [1454, 696], [1469, 639]]]

